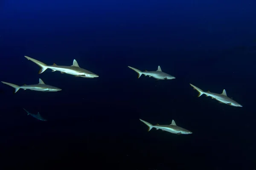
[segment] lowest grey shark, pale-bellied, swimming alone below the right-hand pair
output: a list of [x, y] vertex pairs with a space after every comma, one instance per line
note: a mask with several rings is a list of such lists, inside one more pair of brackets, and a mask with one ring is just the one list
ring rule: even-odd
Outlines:
[[170, 132], [170, 133], [175, 133], [177, 135], [180, 135], [180, 134], [191, 134], [192, 132], [189, 131], [189, 130], [186, 130], [182, 127], [179, 127], [176, 125], [175, 121], [172, 120], [172, 123], [170, 125], [159, 125], [157, 123], [157, 125], [152, 125], [142, 119], [140, 119], [141, 122], [145, 123], [147, 126], [148, 126], [148, 131], [151, 130], [153, 127], [156, 128], [157, 130], [158, 129], [161, 129], [163, 131], [167, 131], [167, 132]]

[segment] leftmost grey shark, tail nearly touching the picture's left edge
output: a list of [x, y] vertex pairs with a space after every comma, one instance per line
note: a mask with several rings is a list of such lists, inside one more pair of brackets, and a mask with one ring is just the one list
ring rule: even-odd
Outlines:
[[2, 83], [15, 88], [14, 93], [16, 93], [18, 90], [20, 90], [20, 88], [22, 88], [24, 90], [29, 89], [32, 91], [61, 91], [60, 88], [56, 88], [52, 85], [46, 85], [42, 79], [39, 79], [39, 83], [36, 85], [25, 85], [24, 84], [24, 85], [18, 86], [18, 85], [9, 83], [9, 82], [2, 82]]

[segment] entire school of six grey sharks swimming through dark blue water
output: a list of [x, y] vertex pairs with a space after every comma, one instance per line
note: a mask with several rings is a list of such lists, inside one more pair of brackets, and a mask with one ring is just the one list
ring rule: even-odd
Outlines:
[[[84, 77], [84, 78], [96, 78], [99, 77], [97, 74], [85, 70], [84, 68], [80, 68], [80, 66], [78, 65], [78, 62], [76, 61], [76, 59], [73, 60], [73, 65], [71, 66], [63, 66], [63, 65], [56, 65], [55, 63], [53, 65], [46, 65], [41, 61], [38, 61], [36, 59], [30, 58], [28, 56], [24, 56], [26, 57], [26, 59], [34, 62], [35, 64], [37, 64], [38, 66], [41, 67], [39, 74], [43, 73], [44, 71], [46, 71], [48, 68], [52, 70], [52, 72], [54, 71], [60, 71], [62, 74], [71, 74], [75, 77]], [[157, 71], [140, 71], [137, 68], [133, 68], [131, 66], [128, 66], [128, 68], [131, 68], [132, 70], [134, 70], [135, 72], [137, 72], [138, 74], [138, 78], [141, 77], [141, 75], [145, 75], [148, 77], [153, 77], [157, 80], [169, 80], [169, 79], [175, 79], [174, 76], [167, 74], [165, 72], [162, 71], [162, 69], [160, 68], [160, 66], [158, 66]], [[3, 82], [3, 84], [9, 85], [13, 88], [15, 88], [14, 93], [16, 93], [18, 90], [23, 89], [23, 90], [32, 90], [32, 91], [49, 91], [49, 92], [53, 92], [53, 91], [61, 91], [61, 88], [57, 88], [54, 87], [52, 85], [47, 85], [44, 83], [44, 81], [42, 79], [39, 79], [38, 84], [34, 84], [34, 85], [15, 85], [9, 82]], [[242, 105], [240, 105], [238, 102], [234, 101], [233, 99], [230, 99], [227, 96], [226, 90], [224, 89], [223, 92], [221, 94], [217, 94], [217, 93], [212, 93], [210, 91], [203, 91], [200, 88], [196, 87], [195, 85], [192, 85], [193, 89], [195, 89], [196, 91], [198, 91], [198, 97], [201, 95], [205, 95], [205, 96], [210, 96], [212, 97], [212, 99], [217, 100], [219, 103], [224, 103], [230, 106], [234, 106], [234, 107], [242, 107]], [[23, 108], [24, 109], [24, 108]], [[26, 109], [24, 109], [24, 111], [26, 111]], [[40, 113], [38, 112], [37, 114], [32, 114], [29, 113], [29, 111], [26, 111], [27, 115], [31, 115], [36, 119], [39, 119], [41, 121], [47, 121], [46, 119], [44, 119]], [[142, 119], [140, 119], [141, 122], [143, 122], [145, 125], [148, 126], [148, 131], [151, 130], [153, 127], [156, 128], [156, 130], [161, 129], [163, 131], [167, 131], [170, 133], [174, 133], [177, 135], [180, 134], [192, 134], [191, 131], [186, 130], [183, 127], [179, 127], [176, 125], [176, 122], [174, 120], [172, 120], [172, 123], [170, 125], [152, 125], [151, 123], [148, 123]]]

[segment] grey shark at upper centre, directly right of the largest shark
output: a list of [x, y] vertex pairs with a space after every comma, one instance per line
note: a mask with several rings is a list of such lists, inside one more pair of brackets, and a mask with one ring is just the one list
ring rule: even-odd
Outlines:
[[160, 79], [175, 79], [174, 76], [171, 76], [170, 74], [167, 74], [165, 72], [162, 71], [162, 69], [160, 68], [160, 66], [158, 66], [157, 71], [140, 71], [137, 68], [133, 68], [128, 66], [128, 68], [131, 68], [132, 70], [136, 71], [138, 74], [138, 78], [140, 78], [140, 76], [142, 74], [144, 74], [145, 76], [149, 76], [149, 77], [154, 77], [157, 80]]

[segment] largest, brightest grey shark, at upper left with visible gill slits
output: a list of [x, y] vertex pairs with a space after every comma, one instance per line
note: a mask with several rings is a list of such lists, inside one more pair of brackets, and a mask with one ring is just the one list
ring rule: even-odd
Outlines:
[[40, 71], [38, 72], [38, 74], [43, 73], [44, 71], [46, 71], [48, 68], [52, 69], [52, 72], [54, 71], [60, 71], [62, 74], [66, 73], [66, 74], [71, 74], [75, 77], [84, 77], [84, 78], [95, 78], [95, 77], [99, 77], [97, 74], [85, 70], [84, 68], [80, 68], [78, 65], [78, 62], [76, 61], [76, 59], [73, 60], [73, 65], [71, 66], [62, 66], [62, 65], [56, 65], [55, 63], [53, 63], [53, 65], [46, 65], [41, 61], [38, 61], [36, 59], [32, 59], [28, 56], [25, 56], [28, 60], [35, 62], [35, 64], [39, 65], [41, 67]]

